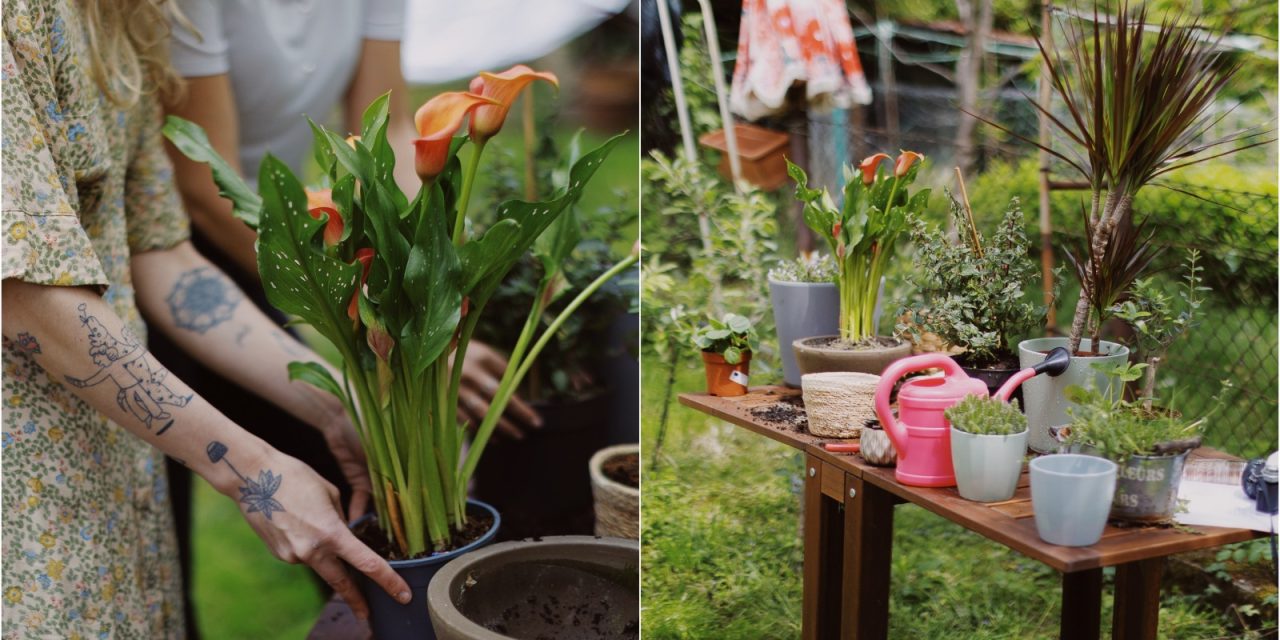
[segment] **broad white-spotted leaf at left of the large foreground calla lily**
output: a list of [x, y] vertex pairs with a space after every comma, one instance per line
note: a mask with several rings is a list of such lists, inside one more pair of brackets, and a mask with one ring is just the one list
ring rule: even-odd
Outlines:
[[324, 223], [307, 215], [302, 184], [289, 168], [268, 154], [259, 172], [262, 219], [257, 239], [259, 273], [266, 300], [315, 326], [335, 344], [348, 343], [344, 310], [360, 268], [325, 255], [317, 236]]

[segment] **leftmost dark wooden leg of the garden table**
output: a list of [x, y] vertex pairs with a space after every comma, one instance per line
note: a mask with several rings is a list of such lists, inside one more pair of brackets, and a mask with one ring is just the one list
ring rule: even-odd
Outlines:
[[822, 461], [805, 460], [804, 605], [800, 635], [805, 640], [840, 637], [841, 539], [840, 503], [822, 493]]

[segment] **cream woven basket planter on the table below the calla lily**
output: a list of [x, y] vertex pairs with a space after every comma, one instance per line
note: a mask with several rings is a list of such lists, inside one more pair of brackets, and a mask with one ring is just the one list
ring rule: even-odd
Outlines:
[[859, 438], [863, 424], [876, 419], [877, 384], [878, 375], [850, 371], [801, 376], [809, 433], [822, 438]]

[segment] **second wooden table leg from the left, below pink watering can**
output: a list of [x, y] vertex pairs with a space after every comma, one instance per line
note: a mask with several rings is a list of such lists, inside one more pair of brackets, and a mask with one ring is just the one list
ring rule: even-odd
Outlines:
[[861, 477], [845, 475], [845, 637], [888, 637], [893, 506], [899, 500]]

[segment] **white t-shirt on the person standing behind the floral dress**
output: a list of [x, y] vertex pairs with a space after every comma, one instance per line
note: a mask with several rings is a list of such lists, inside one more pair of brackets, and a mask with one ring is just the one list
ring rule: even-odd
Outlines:
[[301, 172], [303, 115], [326, 122], [351, 86], [364, 40], [401, 40], [404, 0], [178, 0], [198, 36], [174, 26], [184, 77], [230, 74], [241, 168], [250, 182], [270, 151]]

